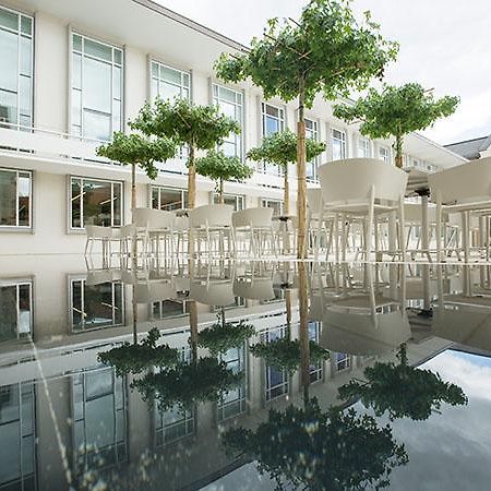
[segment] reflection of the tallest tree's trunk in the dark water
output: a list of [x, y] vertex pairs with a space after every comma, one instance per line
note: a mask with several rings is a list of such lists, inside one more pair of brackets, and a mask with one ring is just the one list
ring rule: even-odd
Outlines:
[[309, 402], [310, 385], [310, 339], [309, 339], [309, 303], [307, 298], [306, 264], [298, 264], [298, 308], [300, 311], [300, 373], [303, 388], [303, 404]]

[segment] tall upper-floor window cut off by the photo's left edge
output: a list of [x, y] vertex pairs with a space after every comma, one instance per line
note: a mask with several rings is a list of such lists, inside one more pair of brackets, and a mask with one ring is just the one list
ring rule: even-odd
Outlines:
[[[0, 7], [0, 127], [33, 123], [33, 17]], [[9, 124], [5, 124], [9, 123]]]

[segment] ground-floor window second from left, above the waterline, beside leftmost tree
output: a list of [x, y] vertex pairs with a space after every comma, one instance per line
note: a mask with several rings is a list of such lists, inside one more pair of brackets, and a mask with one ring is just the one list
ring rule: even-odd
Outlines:
[[72, 177], [70, 179], [70, 225], [121, 226], [122, 182]]

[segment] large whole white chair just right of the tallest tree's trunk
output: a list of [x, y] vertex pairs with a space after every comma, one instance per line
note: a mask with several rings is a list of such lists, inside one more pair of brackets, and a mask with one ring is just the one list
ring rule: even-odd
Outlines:
[[[326, 213], [342, 217], [364, 217], [364, 259], [368, 261], [372, 252], [372, 236], [375, 233], [378, 248], [376, 219], [381, 214], [397, 211], [399, 219], [399, 253], [405, 256], [404, 239], [404, 195], [407, 173], [387, 163], [374, 158], [350, 158], [324, 164], [319, 168], [322, 190], [322, 214], [320, 223]], [[334, 243], [336, 261], [338, 256], [338, 219], [334, 219]], [[378, 252], [375, 250], [375, 252]], [[396, 253], [396, 251], [388, 251]], [[343, 249], [345, 259], [346, 249]]]

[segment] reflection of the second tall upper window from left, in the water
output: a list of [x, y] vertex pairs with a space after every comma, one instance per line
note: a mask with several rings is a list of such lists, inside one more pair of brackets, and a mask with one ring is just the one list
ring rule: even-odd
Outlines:
[[72, 375], [73, 470], [81, 476], [127, 460], [124, 378], [113, 368]]

